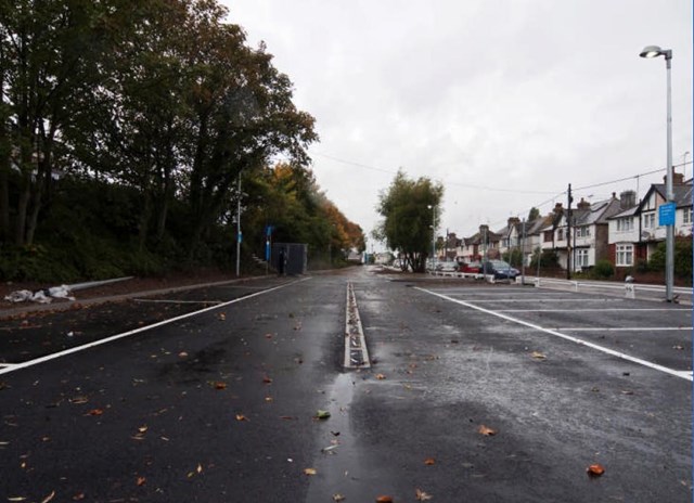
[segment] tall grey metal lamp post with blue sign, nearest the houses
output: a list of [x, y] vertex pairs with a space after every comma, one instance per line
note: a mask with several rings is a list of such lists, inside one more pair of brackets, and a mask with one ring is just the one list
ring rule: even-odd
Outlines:
[[[667, 175], [666, 175], [666, 199], [672, 203], [674, 196], [672, 194], [672, 90], [670, 83], [670, 67], [672, 61], [671, 49], [660, 49], [658, 46], [647, 46], [639, 54], [641, 57], [665, 56], [665, 66], [667, 68]], [[665, 235], [665, 298], [668, 302], [672, 301], [672, 286], [674, 283], [674, 222], [666, 224]]]

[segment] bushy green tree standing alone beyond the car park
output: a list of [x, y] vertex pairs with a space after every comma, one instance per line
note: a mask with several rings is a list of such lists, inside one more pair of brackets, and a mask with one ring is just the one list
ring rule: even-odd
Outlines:
[[374, 236], [386, 241], [388, 248], [400, 252], [404, 258], [403, 270], [409, 267], [424, 272], [436, 232], [432, 211], [441, 215], [442, 196], [440, 183], [426, 177], [410, 180], [402, 170], [398, 170], [388, 190], [378, 195], [376, 209], [384, 220]]

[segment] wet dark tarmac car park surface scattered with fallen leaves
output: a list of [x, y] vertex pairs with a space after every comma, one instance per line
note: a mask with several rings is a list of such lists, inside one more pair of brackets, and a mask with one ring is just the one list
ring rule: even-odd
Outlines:
[[[0, 367], [0, 499], [692, 500], [691, 310], [369, 271], [3, 322], [17, 364], [236, 299]], [[369, 371], [342, 369], [348, 281]]]

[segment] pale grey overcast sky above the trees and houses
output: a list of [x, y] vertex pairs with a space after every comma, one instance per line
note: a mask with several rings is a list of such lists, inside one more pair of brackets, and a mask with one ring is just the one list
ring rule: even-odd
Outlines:
[[444, 183], [439, 232], [464, 236], [566, 205], [568, 183], [643, 195], [667, 164], [666, 65], [644, 46], [672, 49], [673, 164], [694, 153], [690, 0], [221, 3], [294, 82], [317, 180], [367, 233], [400, 167]]

